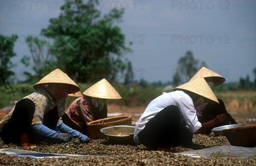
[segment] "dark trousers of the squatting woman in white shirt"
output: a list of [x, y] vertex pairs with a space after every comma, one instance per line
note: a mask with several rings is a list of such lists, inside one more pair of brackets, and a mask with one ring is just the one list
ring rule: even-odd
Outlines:
[[180, 123], [180, 111], [176, 106], [168, 106], [161, 110], [138, 134], [140, 142], [152, 150], [167, 146], [192, 143], [192, 133]]

